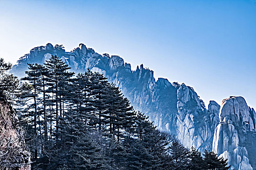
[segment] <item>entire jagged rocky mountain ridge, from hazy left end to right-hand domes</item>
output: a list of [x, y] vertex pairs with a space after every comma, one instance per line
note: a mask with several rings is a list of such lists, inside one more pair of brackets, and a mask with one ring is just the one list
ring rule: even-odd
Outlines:
[[57, 55], [76, 73], [97, 71], [118, 86], [135, 110], [149, 116], [161, 131], [175, 134], [188, 148], [212, 150], [229, 160], [232, 169], [256, 170], [256, 113], [242, 97], [210, 101], [208, 109], [190, 86], [157, 81], [143, 65], [131, 70], [117, 55], [100, 55], [80, 44], [67, 52], [62, 45], [36, 47], [13, 66], [11, 72], [23, 77], [27, 63], [43, 64]]

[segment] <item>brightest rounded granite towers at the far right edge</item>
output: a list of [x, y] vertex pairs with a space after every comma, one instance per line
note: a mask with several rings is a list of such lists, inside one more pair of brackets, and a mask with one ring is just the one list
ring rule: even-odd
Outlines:
[[255, 169], [255, 151], [247, 149], [256, 140], [254, 110], [242, 97], [224, 99], [220, 110], [220, 122], [213, 137], [213, 152], [228, 158], [235, 170], [253, 170], [252, 165]]

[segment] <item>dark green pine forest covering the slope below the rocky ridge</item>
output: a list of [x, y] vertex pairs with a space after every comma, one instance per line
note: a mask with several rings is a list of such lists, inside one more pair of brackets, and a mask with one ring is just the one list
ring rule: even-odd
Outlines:
[[30, 162], [33, 170], [229, 169], [215, 153], [205, 151], [202, 157], [157, 130], [102, 74], [87, 70], [75, 75], [57, 56], [28, 66], [21, 82], [3, 73], [0, 94], [2, 102], [15, 106], [31, 161], [1, 169], [24, 169]]

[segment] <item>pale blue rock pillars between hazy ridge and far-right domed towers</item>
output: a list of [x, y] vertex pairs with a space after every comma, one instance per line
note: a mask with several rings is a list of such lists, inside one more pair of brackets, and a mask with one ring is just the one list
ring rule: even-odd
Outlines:
[[176, 134], [182, 143], [203, 152], [212, 147], [213, 132], [217, 123], [219, 105], [211, 101], [209, 111], [202, 110], [201, 103], [192, 88], [181, 85], [177, 91]]

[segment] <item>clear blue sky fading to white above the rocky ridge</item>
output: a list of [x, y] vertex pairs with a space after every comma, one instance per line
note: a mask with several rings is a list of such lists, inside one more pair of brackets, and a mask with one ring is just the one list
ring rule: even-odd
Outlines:
[[0, 0], [0, 57], [84, 43], [192, 86], [206, 102], [256, 107], [256, 0]]

